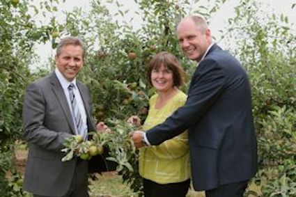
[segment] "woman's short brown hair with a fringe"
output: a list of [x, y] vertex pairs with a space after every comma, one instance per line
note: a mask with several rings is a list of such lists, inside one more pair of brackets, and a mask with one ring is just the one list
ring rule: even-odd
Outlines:
[[161, 65], [164, 65], [164, 67], [173, 72], [173, 86], [179, 87], [184, 84], [185, 72], [179, 63], [178, 58], [169, 52], [159, 52], [153, 56], [148, 65], [147, 79], [151, 86], [151, 72], [154, 69], [158, 70]]

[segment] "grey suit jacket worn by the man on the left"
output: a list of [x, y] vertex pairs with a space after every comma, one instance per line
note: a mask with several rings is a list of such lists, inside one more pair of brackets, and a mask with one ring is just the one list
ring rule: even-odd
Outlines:
[[[91, 121], [91, 97], [88, 88], [77, 81], [88, 122]], [[74, 134], [70, 108], [53, 72], [29, 85], [23, 106], [24, 139], [29, 143], [29, 155], [24, 176], [24, 190], [42, 196], [63, 196], [70, 187], [77, 157], [62, 162], [63, 141]], [[87, 182], [88, 162], [82, 162], [80, 175]], [[80, 166], [80, 165], [79, 165]], [[87, 184], [87, 183], [86, 183]]]

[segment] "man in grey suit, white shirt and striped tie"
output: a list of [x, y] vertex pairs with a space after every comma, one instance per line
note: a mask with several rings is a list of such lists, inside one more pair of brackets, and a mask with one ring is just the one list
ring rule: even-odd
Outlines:
[[81, 40], [62, 39], [55, 61], [56, 70], [30, 84], [24, 97], [24, 138], [29, 143], [24, 190], [35, 197], [84, 197], [88, 196], [88, 161], [78, 157], [61, 161], [67, 137], [80, 134], [86, 139], [88, 131], [95, 131], [89, 90], [76, 80], [84, 62]]

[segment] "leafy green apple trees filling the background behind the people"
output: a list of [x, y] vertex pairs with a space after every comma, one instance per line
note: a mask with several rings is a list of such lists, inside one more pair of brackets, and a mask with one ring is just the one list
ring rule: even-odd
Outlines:
[[[207, 7], [199, 5], [193, 11], [210, 18], [225, 1], [209, 0]], [[91, 88], [95, 121], [126, 120], [135, 114], [145, 118], [148, 97], [153, 94], [145, 70], [157, 52], [176, 54], [187, 71], [188, 85], [196, 65], [180, 52], [175, 28], [191, 2], [136, 2], [143, 13], [137, 17], [144, 22], [138, 30], [131, 22], [112, 22], [100, 1], [91, 1], [91, 10], [65, 13], [65, 22], [54, 17], [59, 0], [38, 5], [29, 0], [0, 1], [0, 196], [25, 195], [14, 165], [15, 144], [24, 143], [22, 98], [31, 81], [54, 70], [54, 63], [48, 69], [29, 69], [36, 63], [36, 43], [49, 40], [54, 48], [63, 36], [84, 39], [87, 55], [79, 79]], [[124, 18], [120, 3], [110, 3]], [[291, 9], [295, 10], [295, 3]], [[49, 22], [37, 25], [34, 16], [47, 13], [52, 15]], [[229, 43], [226, 49], [240, 59], [252, 86], [259, 171], [245, 196], [296, 196], [295, 26], [285, 15], [263, 13], [260, 1], [241, 0], [222, 35], [216, 41]], [[129, 162], [137, 168], [133, 158]], [[126, 170], [123, 180], [135, 191], [141, 186], [133, 184], [139, 181], [137, 172]]]

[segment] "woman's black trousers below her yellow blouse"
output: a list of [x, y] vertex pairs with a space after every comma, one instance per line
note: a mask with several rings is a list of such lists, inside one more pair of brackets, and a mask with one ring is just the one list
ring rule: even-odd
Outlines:
[[190, 179], [184, 182], [158, 184], [151, 180], [143, 179], [145, 197], [185, 197], [190, 185]]

